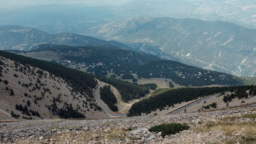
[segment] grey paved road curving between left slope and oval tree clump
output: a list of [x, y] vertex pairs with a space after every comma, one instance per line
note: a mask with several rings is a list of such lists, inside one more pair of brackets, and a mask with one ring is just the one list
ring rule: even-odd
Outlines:
[[101, 82], [101, 81], [98, 81], [98, 84], [99, 84], [99, 86], [95, 89], [94, 94], [95, 94], [95, 100], [96, 100], [96, 102], [100, 105], [100, 107], [101, 107], [106, 113], [108, 113], [110, 116], [115, 116], [115, 117], [126, 116], [127, 113], [120, 113], [120, 114], [115, 113], [115, 112], [111, 111], [111, 110], [109, 109], [109, 107], [105, 106], [105, 105], [102, 103], [102, 101], [101, 101], [100, 98], [99, 98], [99, 97], [100, 97], [100, 96], [99, 96], [99, 88], [102, 87], [102, 82]]

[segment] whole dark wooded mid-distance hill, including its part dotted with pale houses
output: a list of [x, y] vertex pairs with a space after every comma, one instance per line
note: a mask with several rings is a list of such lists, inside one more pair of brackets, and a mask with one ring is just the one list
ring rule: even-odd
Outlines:
[[[87, 71], [98, 76], [114, 73], [123, 79], [133, 79], [131, 74], [138, 78], [166, 78], [184, 86], [204, 86], [211, 84], [243, 85], [244, 82], [235, 76], [217, 71], [205, 70], [173, 60], [160, 58], [120, 49], [116, 46], [80, 46], [67, 45], [39, 45], [32, 52], [52, 51], [61, 60], [70, 60], [74, 63], [85, 63]], [[30, 53], [30, 52], [26, 52]], [[80, 67], [78, 67], [80, 68]]]

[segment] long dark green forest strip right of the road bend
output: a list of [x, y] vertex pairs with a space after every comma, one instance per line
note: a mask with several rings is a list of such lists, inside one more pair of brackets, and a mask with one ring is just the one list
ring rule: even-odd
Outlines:
[[237, 89], [250, 89], [250, 86], [232, 86], [232, 87], [201, 87], [201, 88], [178, 88], [171, 89], [160, 93], [154, 97], [143, 99], [132, 105], [127, 116], [138, 116], [141, 113], [151, 113], [157, 109], [164, 109], [164, 107], [173, 106], [181, 102], [188, 102], [191, 100], [205, 97], [206, 95], [223, 92], [235, 91]]

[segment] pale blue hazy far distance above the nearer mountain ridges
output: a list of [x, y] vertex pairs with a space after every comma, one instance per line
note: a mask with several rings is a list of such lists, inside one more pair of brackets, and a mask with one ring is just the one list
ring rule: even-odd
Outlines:
[[18, 8], [8, 7], [9, 5], [4, 4], [0, 6], [1, 26], [32, 27], [51, 34], [85, 34], [87, 29], [94, 26], [137, 17], [223, 20], [256, 29], [255, 0], [133, 0], [109, 3], [88, 1], [78, 5], [77, 2], [67, 5], [61, 1], [51, 1], [50, 4], [44, 5], [22, 3], [17, 5]]

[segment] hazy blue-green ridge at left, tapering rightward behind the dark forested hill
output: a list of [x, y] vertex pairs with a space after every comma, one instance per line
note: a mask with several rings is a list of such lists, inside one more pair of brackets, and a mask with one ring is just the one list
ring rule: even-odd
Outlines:
[[128, 47], [116, 41], [105, 41], [97, 38], [82, 36], [72, 33], [49, 34], [33, 28], [19, 26], [0, 27], [0, 50], [31, 50], [38, 44], [66, 44], [66, 45], [87, 45], [87, 44], [114, 44]]

